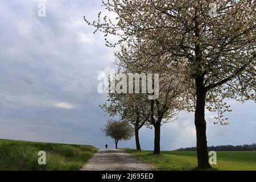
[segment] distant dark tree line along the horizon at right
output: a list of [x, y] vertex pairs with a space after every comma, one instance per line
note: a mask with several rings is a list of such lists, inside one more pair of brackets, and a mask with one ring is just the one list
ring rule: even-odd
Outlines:
[[[180, 151], [196, 151], [196, 147], [179, 148]], [[243, 144], [242, 146], [211, 146], [209, 151], [256, 151], [256, 144]]]

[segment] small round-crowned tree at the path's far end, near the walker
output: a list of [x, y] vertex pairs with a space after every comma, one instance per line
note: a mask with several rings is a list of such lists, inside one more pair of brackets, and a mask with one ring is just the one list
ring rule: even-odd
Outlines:
[[133, 127], [129, 125], [129, 122], [114, 121], [112, 119], [106, 123], [102, 131], [106, 137], [114, 139], [115, 149], [117, 149], [117, 144], [120, 140], [129, 140], [134, 134]]

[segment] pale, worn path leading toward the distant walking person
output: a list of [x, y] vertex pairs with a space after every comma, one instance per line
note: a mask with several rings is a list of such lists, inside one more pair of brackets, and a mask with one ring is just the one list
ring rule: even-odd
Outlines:
[[96, 154], [90, 159], [82, 171], [146, 171], [155, 170], [150, 164], [139, 160], [137, 156], [129, 154], [123, 150], [98, 150]]

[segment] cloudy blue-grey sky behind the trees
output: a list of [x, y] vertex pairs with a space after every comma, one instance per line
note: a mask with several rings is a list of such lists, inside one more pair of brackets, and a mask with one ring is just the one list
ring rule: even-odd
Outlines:
[[[46, 2], [46, 17], [38, 16]], [[83, 19], [97, 19], [100, 0], [0, 0], [0, 138], [114, 147], [102, 134], [109, 119], [98, 105], [97, 76], [114, 68], [113, 49]], [[103, 9], [104, 10], [104, 9]], [[256, 142], [253, 101], [229, 101], [228, 126], [207, 113], [208, 146]], [[152, 150], [154, 131], [140, 131], [141, 146]], [[162, 127], [162, 150], [196, 146], [193, 113]], [[119, 147], [135, 147], [134, 139]]]

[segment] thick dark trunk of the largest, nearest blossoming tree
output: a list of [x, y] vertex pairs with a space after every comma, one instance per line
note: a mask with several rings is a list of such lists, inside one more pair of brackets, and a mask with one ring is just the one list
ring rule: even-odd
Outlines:
[[196, 77], [196, 147], [197, 147], [197, 165], [200, 169], [209, 169], [209, 155], [207, 150], [206, 121], [204, 118], [205, 96], [207, 90], [204, 86], [204, 77]]

